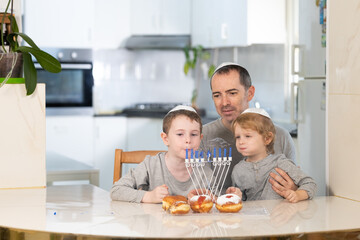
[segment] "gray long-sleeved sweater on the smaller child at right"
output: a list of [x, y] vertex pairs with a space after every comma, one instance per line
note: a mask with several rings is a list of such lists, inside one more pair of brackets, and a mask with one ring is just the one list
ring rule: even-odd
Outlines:
[[240, 161], [234, 167], [231, 179], [235, 187], [240, 188], [243, 200], [282, 199], [272, 188], [269, 182], [270, 172], [276, 173], [275, 168], [284, 170], [298, 189], [305, 190], [309, 199], [316, 192], [315, 181], [307, 176], [299, 167], [287, 159], [283, 154], [268, 155], [257, 162]]

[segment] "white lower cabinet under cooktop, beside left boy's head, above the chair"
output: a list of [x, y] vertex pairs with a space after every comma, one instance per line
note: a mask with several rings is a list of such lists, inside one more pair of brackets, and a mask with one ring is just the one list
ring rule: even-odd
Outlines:
[[127, 118], [127, 150], [167, 150], [160, 134], [161, 118]]

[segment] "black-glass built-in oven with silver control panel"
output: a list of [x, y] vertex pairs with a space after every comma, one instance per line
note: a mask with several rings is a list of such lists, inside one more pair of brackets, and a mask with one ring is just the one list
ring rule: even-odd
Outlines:
[[93, 64], [91, 49], [44, 49], [61, 63], [60, 73], [50, 73], [35, 63], [39, 83], [46, 84], [47, 107], [91, 107]]

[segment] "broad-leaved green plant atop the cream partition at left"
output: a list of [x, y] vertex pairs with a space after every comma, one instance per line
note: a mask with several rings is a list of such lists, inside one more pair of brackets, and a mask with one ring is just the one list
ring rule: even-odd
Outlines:
[[[11, 11], [8, 13], [9, 6], [11, 4]], [[3, 69], [4, 81], [0, 87], [3, 86], [11, 76], [14, 76], [14, 68], [19, 66], [23, 69], [25, 78], [26, 94], [31, 95], [36, 88], [37, 84], [37, 72], [32, 60], [32, 56], [35, 57], [37, 62], [43, 69], [52, 73], [58, 73], [61, 71], [61, 65], [50, 54], [40, 50], [40, 48], [33, 42], [33, 40], [24, 33], [19, 32], [19, 28], [16, 19], [13, 15], [13, 0], [8, 0], [5, 12], [0, 14], [0, 26], [7, 25], [8, 28], [1, 29], [1, 50], [0, 50], [0, 64], [2, 59], [10, 59], [11, 63], [8, 64], [8, 69]], [[2, 27], [1, 27], [2, 28]], [[5, 34], [6, 33], [6, 34]], [[6, 36], [4, 36], [6, 35]], [[22, 38], [29, 46], [21, 46], [19, 44], [20, 38]], [[8, 48], [8, 50], [7, 50]], [[22, 66], [23, 65], [23, 66]], [[20, 71], [22, 72], [22, 71]]]

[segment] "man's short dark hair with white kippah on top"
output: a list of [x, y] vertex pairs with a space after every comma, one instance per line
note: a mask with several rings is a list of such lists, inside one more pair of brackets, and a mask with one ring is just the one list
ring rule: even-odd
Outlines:
[[211, 83], [215, 74], [228, 74], [232, 70], [235, 70], [239, 73], [240, 84], [243, 85], [247, 91], [252, 85], [249, 72], [239, 64], [230, 62], [222, 63], [215, 69], [214, 74], [210, 78], [210, 88], [212, 89]]

